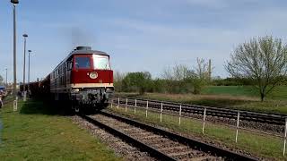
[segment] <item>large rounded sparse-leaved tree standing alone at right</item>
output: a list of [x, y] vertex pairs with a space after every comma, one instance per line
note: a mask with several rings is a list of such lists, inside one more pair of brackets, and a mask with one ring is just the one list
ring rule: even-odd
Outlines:
[[230, 55], [225, 69], [231, 76], [255, 82], [261, 101], [286, 79], [287, 47], [280, 38], [252, 38]]

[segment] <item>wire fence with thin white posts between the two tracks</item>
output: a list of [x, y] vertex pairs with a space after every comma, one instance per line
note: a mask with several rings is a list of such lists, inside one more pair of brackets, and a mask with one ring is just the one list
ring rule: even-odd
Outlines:
[[[152, 102], [152, 104], [151, 104]], [[156, 101], [157, 105], [154, 105], [154, 101], [153, 100], [143, 100], [143, 99], [135, 99], [135, 98], [128, 98], [128, 97], [115, 97], [115, 99], [112, 100], [112, 103], [110, 104], [110, 107], [116, 107], [117, 109], [119, 109], [119, 106], [125, 106], [125, 112], [127, 112], [127, 108], [133, 109], [134, 114], [136, 114], [137, 109], [141, 109], [143, 111], [145, 111], [145, 117], [147, 118], [149, 115], [149, 112], [154, 112], [154, 113], [158, 113], [160, 115], [160, 122], [162, 123], [162, 114], [170, 114], [170, 115], [174, 115], [174, 116], [178, 116], [178, 125], [181, 125], [181, 118], [185, 117], [185, 118], [189, 118], [189, 119], [196, 119], [199, 121], [202, 121], [202, 133], [204, 134], [204, 129], [205, 129], [205, 123], [209, 123], [206, 120], [207, 116], [213, 116], [213, 115], [209, 115], [212, 114], [210, 113], [209, 110], [213, 110], [213, 109], [209, 109], [207, 107], [204, 107], [203, 113], [202, 113], [202, 117], [201, 118], [196, 118], [194, 116], [190, 116], [189, 113], [187, 113], [187, 111], [183, 112], [183, 105], [182, 104], [173, 104], [172, 108], [165, 108], [165, 106], [170, 106], [170, 103], [168, 102], [164, 102], [164, 101]], [[196, 113], [198, 114], [198, 113]], [[273, 137], [277, 137], [283, 140], [283, 156], [285, 156], [285, 152], [286, 152], [286, 142], [287, 142], [287, 118], [285, 117], [284, 121], [284, 135], [280, 135], [280, 134], [274, 134], [274, 133], [270, 133], [270, 132], [265, 132], [265, 131], [257, 131], [254, 129], [248, 129], [245, 127], [240, 127], [239, 126], [239, 122], [241, 121], [241, 117], [240, 116], [241, 112], [237, 111], [236, 117], [234, 118], [230, 118], [230, 116], [228, 116], [228, 119], [234, 120], [236, 121], [236, 125], [230, 125], [229, 123], [217, 123], [217, 124], [221, 124], [224, 126], [228, 126], [232, 129], [235, 129], [235, 134], [234, 134], [234, 141], [237, 143], [238, 142], [238, 138], [239, 138], [239, 130], [244, 130], [244, 131], [253, 131], [253, 132], [257, 132], [258, 134], [263, 134], [263, 135], [270, 135]], [[221, 118], [224, 118], [224, 116], [221, 116]], [[269, 123], [269, 122], [268, 122]]]

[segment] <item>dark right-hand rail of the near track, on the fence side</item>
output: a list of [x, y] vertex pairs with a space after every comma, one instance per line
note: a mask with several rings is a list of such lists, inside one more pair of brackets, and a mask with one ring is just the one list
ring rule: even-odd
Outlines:
[[[255, 157], [248, 157], [248, 156], [230, 151], [228, 149], [215, 147], [211, 144], [204, 143], [200, 140], [190, 139], [190, 138], [187, 138], [185, 136], [181, 136], [181, 135], [178, 135], [176, 133], [173, 133], [170, 131], [165, 131], [165, 130], [162, 130], [160, 128], [151, 126], [151, 125], [146, 124], [146, 123], [140, 123], [140, 122], [137, 122], [135, 120], [132, 120], [132, 119], [127, 118], [127, 117], [122, 116], [122, 115], [112, 114], [112, 113], [107, 112], [107, 111], [101, 111], [100, 114], [115, 118], [121, 122], [128, 123], [128, 124], [134, 125], [136, 127], [140, 127], [146, 131], [152, 131], [154, 133], [168, 137], [170, 140], [178, 141], [179, 143], [185, 144], [190, 148], [195, 148], [197, 150], [200, 150], [200, 151], [203, 151], [206, 153], [210, 153], [213, 156], [223, 157], [225, 160], [258, 160]], [[160, 160], [165, 160], [165, 159], [160, 157]]]

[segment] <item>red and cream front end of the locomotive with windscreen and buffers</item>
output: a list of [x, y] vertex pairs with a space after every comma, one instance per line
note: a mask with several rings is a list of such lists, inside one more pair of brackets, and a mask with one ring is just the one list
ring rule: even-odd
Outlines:
[[113, 71], [110, 68], [109, 55], [84, 50], [80, 52], [73, 57], [73, 104], [75, 108], [105, 108], [114, 97]]

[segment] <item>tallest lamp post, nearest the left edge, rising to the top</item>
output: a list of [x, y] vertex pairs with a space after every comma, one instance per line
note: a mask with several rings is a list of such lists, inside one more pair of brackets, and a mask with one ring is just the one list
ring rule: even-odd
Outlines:
[[[17, 77], [16, 77], [16, 4], [19, 4], [19, 1], [11, 0], [11, 3], [13, 4], [13, 97], [15, 101], [16, 100], [16, 84], [17, 84]], [[16, 105], [17, 105], [17, 102], [16, 102]]]

